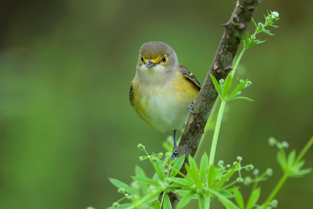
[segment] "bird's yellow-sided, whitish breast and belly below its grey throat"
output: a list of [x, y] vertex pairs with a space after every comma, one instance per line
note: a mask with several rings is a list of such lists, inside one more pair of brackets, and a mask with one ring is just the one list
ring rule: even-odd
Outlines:
[[187, 107], [199, 92], [179, 70], [163, 84], [144, 84], [135, 78], [132, 85], [132, 104], [137, 114], [161, 132], [186, 124], [190, 113]]

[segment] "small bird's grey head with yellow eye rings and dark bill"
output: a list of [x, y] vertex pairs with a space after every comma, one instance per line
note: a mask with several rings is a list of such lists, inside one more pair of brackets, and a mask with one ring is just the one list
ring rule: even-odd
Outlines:
[[136, 71], [138, 74], [161, 76], [169, 74], [178, 67], [178, 59], [174, 50], [163, 42], [144, 43], [139, 50]]

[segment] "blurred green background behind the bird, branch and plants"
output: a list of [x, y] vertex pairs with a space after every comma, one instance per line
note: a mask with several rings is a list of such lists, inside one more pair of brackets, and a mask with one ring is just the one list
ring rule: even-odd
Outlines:
[[[172, 132], [152, 129], [129, 103], [138, 50], [152, 40], [168, 43], [203, 83], [235, 4], [2, 0], [0, 208], [106, 208], [121, 197], [108, 177], [129, 183], [136, 164], [151, 176], [136, 145], [164, 151]], [[264, 0], [256, 22], [267, 9], [280, 13], [280, 28], [259, 36], [268, 40], [246, 51], [237, 73], [252, 81], [244, 95], [255, 102], [227, 105], [216, 155], [225, 163], [241, 155], [261, 171], [272, 167], [261, 200], [282, 174], [269, 136], [300, 151], [313, 130], [313, 2]], [[201, 154], [211, 139], [212, 132]], [[312, 149], [305, 159], [313, 166]], [[279, 208], [311, 209], [312, 186], [313, 174], [288, 180]]]

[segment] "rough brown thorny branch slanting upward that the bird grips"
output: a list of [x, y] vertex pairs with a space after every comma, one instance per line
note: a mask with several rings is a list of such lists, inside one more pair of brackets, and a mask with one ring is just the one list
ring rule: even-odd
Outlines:
[[[233, 69], [233, 59], [240, 43], [236, 33], [244, 34], [248, 23], [251, 21], [256, 8], [261, 2], [262, 0], [237, 0], [235, 10], [230, 20], [228, 23], [223, 24], [226, 29], [219, 43], [210, 71], [193, 105], [193, 111], [195, 113], [190, 113], [185, 131], [178, 145], [177, 157], [186, 154], [185, 163], [188, 163], [188, 155], [192, 157], [195, 156], [208, 117], [218, 97], [218, 93], [210, 78], [210, 72], [219, 80], [225, 79], [228, 73]], [[180, 171], [187, 174], [184, 166], [182, 166]], [[179, 198], [173, 193], [170, 193], [169, 196], [172, 202], [172, 208], [175, 208]]]

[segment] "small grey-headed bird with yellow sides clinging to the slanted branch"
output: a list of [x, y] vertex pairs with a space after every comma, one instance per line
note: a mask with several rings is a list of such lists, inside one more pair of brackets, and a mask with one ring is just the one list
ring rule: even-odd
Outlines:
[[186, 125], [200, 89], [199, 81], [178, 62], [172, 47], [159, 41], [141, 46], [129, 100], [151, 127], [162, 133], [174, 130], [172, 158], [177, 153], [177, 130]]

